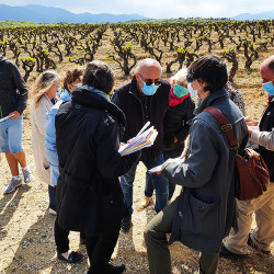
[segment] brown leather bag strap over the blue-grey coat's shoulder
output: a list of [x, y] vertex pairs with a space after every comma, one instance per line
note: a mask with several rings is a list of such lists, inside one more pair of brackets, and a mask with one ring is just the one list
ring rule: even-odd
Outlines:
[[216, 106], [207, 106], [203, 112], [210, 113], [214, 116], [214, 118], [221, 125], [221, 130], [226, 133], [229, 146], [237, 151], [239, 148], [239, 144], [235, 137], [233, 127], [224, 116], [221, 111]]

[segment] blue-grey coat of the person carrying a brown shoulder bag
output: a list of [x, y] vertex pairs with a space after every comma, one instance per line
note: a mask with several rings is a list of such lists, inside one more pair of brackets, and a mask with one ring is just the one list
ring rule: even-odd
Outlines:
[[190, 132], [185, 163], [168, 163], [162, 174], [183, 185], [174, 217], [171, 242], [206, 253], [218, 253], [231, 226], [237, 229], [235, 151], [220, 124], [205, 107], [214, 105], [232, 124], [240, 151], [248, 141], [248, 127], [240, 110], [219, 90], [203, 101]]

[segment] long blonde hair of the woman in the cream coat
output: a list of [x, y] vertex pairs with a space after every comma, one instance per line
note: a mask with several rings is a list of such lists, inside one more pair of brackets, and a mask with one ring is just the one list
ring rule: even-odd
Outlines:
[[32, 87], [34, 106], [37, 107], [41, 99], [61, 79], [60, 75], [54, 70], [46, 70], [39, 75]]

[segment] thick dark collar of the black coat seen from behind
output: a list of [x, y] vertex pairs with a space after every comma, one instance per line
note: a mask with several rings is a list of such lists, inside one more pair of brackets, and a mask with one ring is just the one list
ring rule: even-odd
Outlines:
[[78, 88], [72, 93], [72, 102], [88, 107], [105, 110], [115, 116], [119, 124], [123, 126], [126, 125], [125, 114], [115, 104], [106, 100], [104, 96], [100, 96], [95, 92], [91, 92], [84, 88]]

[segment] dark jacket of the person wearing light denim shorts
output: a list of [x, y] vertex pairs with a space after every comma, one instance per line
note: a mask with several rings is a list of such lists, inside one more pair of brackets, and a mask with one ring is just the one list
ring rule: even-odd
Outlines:
[[0, 56], [0, 118], [14, 111], [22, 114], [26, 101], [27, 88], [16, 65]]

